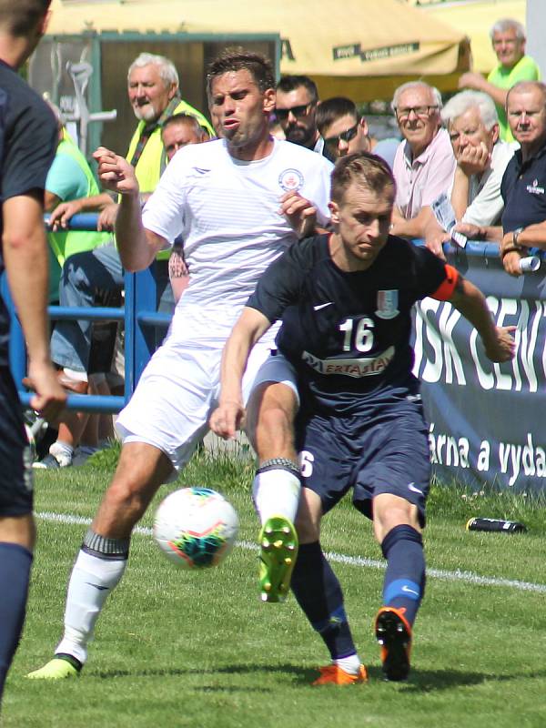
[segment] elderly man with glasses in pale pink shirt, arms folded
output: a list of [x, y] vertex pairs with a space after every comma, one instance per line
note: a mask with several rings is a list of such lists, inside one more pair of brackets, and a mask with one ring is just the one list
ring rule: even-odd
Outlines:
[[457, 162], [450, 135], [441, 127], [441, 106], [440, 91], [422, 81], [403, 84], [394, 92], [392, 109], [403, 141], [394, 158], [392, 235], [426, 238], [430, 205], [450, 187]]

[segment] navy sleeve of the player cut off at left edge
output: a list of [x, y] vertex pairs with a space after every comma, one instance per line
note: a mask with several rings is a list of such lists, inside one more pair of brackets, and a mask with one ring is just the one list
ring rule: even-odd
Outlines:
[[28, 89], [6, 98], [5, 145], [2, 165], [2, 199], [38, 194], [56, 150], [56, 119], [45, 102]]

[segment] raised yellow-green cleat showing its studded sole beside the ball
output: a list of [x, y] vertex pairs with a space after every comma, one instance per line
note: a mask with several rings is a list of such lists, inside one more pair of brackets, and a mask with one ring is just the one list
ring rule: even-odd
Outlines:
[[262, 602], [284, 602], [298, 556], [298, 534], [284, 516], [268, 519], [259, 533]]

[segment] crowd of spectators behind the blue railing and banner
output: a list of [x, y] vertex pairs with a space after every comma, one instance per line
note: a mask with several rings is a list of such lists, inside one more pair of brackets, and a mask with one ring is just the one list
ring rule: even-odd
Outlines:
[[[521, 275], [520, 261], [529, 248], [546, 247], [542, 161], [546, 86], [538, 81], [536, 64], [525, 55], [520, 23], [500, 20], [490, 36], [498, 66], [487, 78], [477, 73], [460, 76], [463, 90], [445, 106], [440, 91], [424, 81], [396, 89], [391, 107], [398, 137], [371, 136], [367, 119], [352, 99], [319, 99], [318, 88], [308, 76], [280, 79], [270, 131], [332, 162], [357, 151], [382, 157], [397, 184], [391, 234], [422, 238], [440, 257], [449, 241], [496, 241], [504, 268], [511, 275]], [[127, 93], [138, 124], [126, 159], [136, 167], [144, 205], [180, 147], [222, 136], [222, 129], [214, 106], [211, 125], [179, 96], [177, 70], [163, 56], [144, 53], [136, 58], [128, 69]], [[50, 299], [69, 307], [104, 305], [118, 300], [123, 290], [124, 271], [111, 232], [117, 200], [99, 192], [86, 160], [66, 134], [62, 117], [58, 119], [59, 146], [45, 199], [53, 224], [49, 239], [55, 290]], [[69, 177], [76, 177], [71, 186]], [[70, 218], [90, 210], [100, 213], [97, 233], [71, 232]], [[168, 256], [165, 252], [157, 257], [157, 307], [172, 312], [191, 271], [183, 241], [175, 241], [167, 261]], [[105, 349], [109, 354], [102, 358], [102, 366], [92, 371], [92, 331], [91, 322], [84, 320], [60, 321], [53, 331], [52, 357], [68, 391], [109, 391], [113, 342]], [[85, 461], [99, 446], [97, 438], [86, 445], [86, 422], [87, 416], [81, 413], [67, 413], [49, 454], [35, 466], [76, 464], [78, 445], [84, 455], [79, 461]]]

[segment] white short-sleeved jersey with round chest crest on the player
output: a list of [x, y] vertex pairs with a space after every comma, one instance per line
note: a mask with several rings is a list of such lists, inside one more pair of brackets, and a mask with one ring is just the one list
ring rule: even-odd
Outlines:
[[325, 157], [278, 140], [268, 157], [251, 162], [231, 157], [223, 139], [177, 152], [143, 213], [147, 229], [184, 239], [189, 285], [177, 310], [237, 316], [259, 276], [297, 241], [280, 198], [297, 190], [324, 224], [331, 169]]

